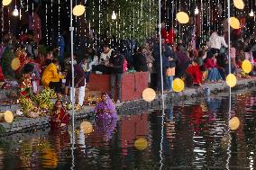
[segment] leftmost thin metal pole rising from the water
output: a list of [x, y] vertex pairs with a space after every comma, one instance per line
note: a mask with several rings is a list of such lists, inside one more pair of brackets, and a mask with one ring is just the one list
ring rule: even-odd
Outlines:
[[74, 131], [75, 131], [75, 122], [74, 122], [74, 113], [75, 113], [75, 96], [74, 96], [74, 92], [75, 92], [75, 89], [74, 89], [74, 57], [73, 57], [73, 53], [74, 53], [74, 49], [73, 49], [73, 33], [74, 33], [74, 27], [73, 27], [73, 23], [72, 23], [72, 20], [73, 20], [73, 17], [72, 17], [72, 9], [73, 9], [73, 2], [72, 0], [70, 0], [70, 28], [69, 28], [69, 31], [70, 31], [70, 44], [71, 44], [71, 72], [72, 72], [72, 87], [71, 87], [71, 103], [72, 103], [72, 148], [74, 148], [74, 139], [75, 139], [75, 136], [74, 136]]

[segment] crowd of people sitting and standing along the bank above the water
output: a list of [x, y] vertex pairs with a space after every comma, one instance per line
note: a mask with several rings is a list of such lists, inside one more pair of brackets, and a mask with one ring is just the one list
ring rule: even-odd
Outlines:
[[[127, 51], [120, 44], [107, 43], [109, 40], [95, 49], [89, 46], [83, 55], [74, 54], [78, 107], [84, 103], [86, 85], [89, 83], [91, 73], [111, 75], [110, 97], [115, 98], [116, 103], [121, 102], [121, 80], [127, 70], [147, 72], [149, 85], [157, 91], [160, 91], [161, 76], [164, 79], [164, 90], [172, 91], [172, 82], [176, 77], [183, 79], [187, 86], [196, 85], [204, 88], [205, 83], [225, 80], [229, 74], [228, 54], [230, 53], [232, 73], [238, 77], [253, 75], [254, 69], [250, 74], [246, 74], [240, 68], [245, 59], [248, 59], [254, 68], [255, 36], [233, 40], [230, 51], [227, 50], [228, 45], [222, 32], [212, 31], [208, 42], [199, 45], [195, 40], [191, 40], [190, 43], [175, 40], [174, 34], [169, 36], [164, 31], [161, 36], [161, 56], [160, 39], [157, 34], [141, 46], [133, 45], [132, 57], [127, 55]], [[38, 87], [42, 85], [44, 88], [53, 89], [59, 96], [61, 94], [72, 96], [69, 93], [72, 80], [70, 56], [64, 58], [64, 49], [60, 49], [57, 47], [43, 51], [41, 44], [32, 43], [29, 39], [26, 43], [21, 43], [12, 35], [6, 34], [0, 48], [2, 68], [0, 75], [3, 75], [0, 77], [5, 81], [4, 88], [10, 85], [21, 87], [24, 77], [30, 76], [34, 94], [39, 93]], [[162, 58], [162, 72], [160, 58]], [[114, 96], [115, 88], [116, 96]], [[72, 100], [73, 98], [70, 97], [70, 101]]]

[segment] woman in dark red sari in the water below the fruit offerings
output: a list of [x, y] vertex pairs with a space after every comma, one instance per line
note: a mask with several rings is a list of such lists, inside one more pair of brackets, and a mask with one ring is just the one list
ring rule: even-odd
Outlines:
[[61, 101], [55, 103], [49, 122], [51, 130], [58, 130], [69, 124], [69, 112], [66, 111]]

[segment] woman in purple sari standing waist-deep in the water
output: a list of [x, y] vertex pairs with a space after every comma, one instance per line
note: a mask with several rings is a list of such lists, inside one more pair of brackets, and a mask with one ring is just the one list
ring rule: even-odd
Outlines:
[[112, 102], [108, 94], [101, 94], [101, 101], [96, 104], [95, 113], [97, 119], [101, 117], [117, 119], [114, 103]]

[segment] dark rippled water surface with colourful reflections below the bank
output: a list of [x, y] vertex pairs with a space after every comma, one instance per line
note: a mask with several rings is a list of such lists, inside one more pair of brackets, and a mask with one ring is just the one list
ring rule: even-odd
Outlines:
[[75, 149], [69, 130], [15, 134], [0, 139], [0, 169], [255, 169], [256, 93], [233, 94], [231, 112], [229, 103], [223, 95], [94, 123], [89, 135], [77, 128]]

